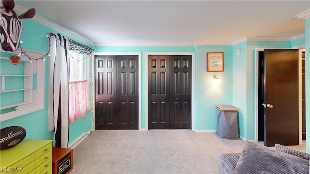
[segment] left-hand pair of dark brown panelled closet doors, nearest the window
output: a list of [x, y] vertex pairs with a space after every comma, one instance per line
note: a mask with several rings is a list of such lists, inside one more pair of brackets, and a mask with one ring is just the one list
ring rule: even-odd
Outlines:
[[95, 129], [138, 129], [138, 56], [95, 56]]

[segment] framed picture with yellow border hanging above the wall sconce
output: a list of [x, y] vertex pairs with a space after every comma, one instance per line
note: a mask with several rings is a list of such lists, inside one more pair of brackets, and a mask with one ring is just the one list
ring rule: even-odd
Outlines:
[[207, 53], [207, 72], [224, 71], [224, 53], [212, 52]]

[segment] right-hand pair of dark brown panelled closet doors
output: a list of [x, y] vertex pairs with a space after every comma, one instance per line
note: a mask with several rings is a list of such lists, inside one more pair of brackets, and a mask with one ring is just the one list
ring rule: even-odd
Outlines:
[[191, 58], [148, 56], [149, 129], [191, 129]]

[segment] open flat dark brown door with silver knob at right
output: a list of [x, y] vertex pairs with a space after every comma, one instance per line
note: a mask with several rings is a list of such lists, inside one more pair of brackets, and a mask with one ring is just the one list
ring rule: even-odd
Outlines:
[[264, 50], [264, 145], [298, 145], [298, 50]]

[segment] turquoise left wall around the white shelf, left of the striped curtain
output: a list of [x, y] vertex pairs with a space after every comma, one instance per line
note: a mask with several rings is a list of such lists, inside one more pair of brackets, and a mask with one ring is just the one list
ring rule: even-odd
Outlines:
[[[32, 20], [26, 19], [23, 22], [23, 32], [21, 35], [22, 48], [31, 49], [43, 53], [48, 51], [48, 38], [46, 34], [49, 32], [55, 32], [43, 25], [40, 25]], [[35, 34], [34, 34], [35, 33]], [[1, 53], [1, 56], [7, 56], [5, 53]], [[48, 60], [48, 58], [46, 58]], [[45, 70], [48, 70], [48, 61], [45, 64]], [[47, 91], [47, 79], [48, 73], [45, 73], [45, 94]], [[11, 100], [7, 98], [6, 100]], [[45, 96], [45, 109], [24, 115], [18, 116], [13, 119], [0, 122], [0, 127], [8, 126], [21, 126], [25, 128], [27, 139], [53, 139], [53, 132], [48, 131], [48, 119], [47, 119], [47, 95]]]

